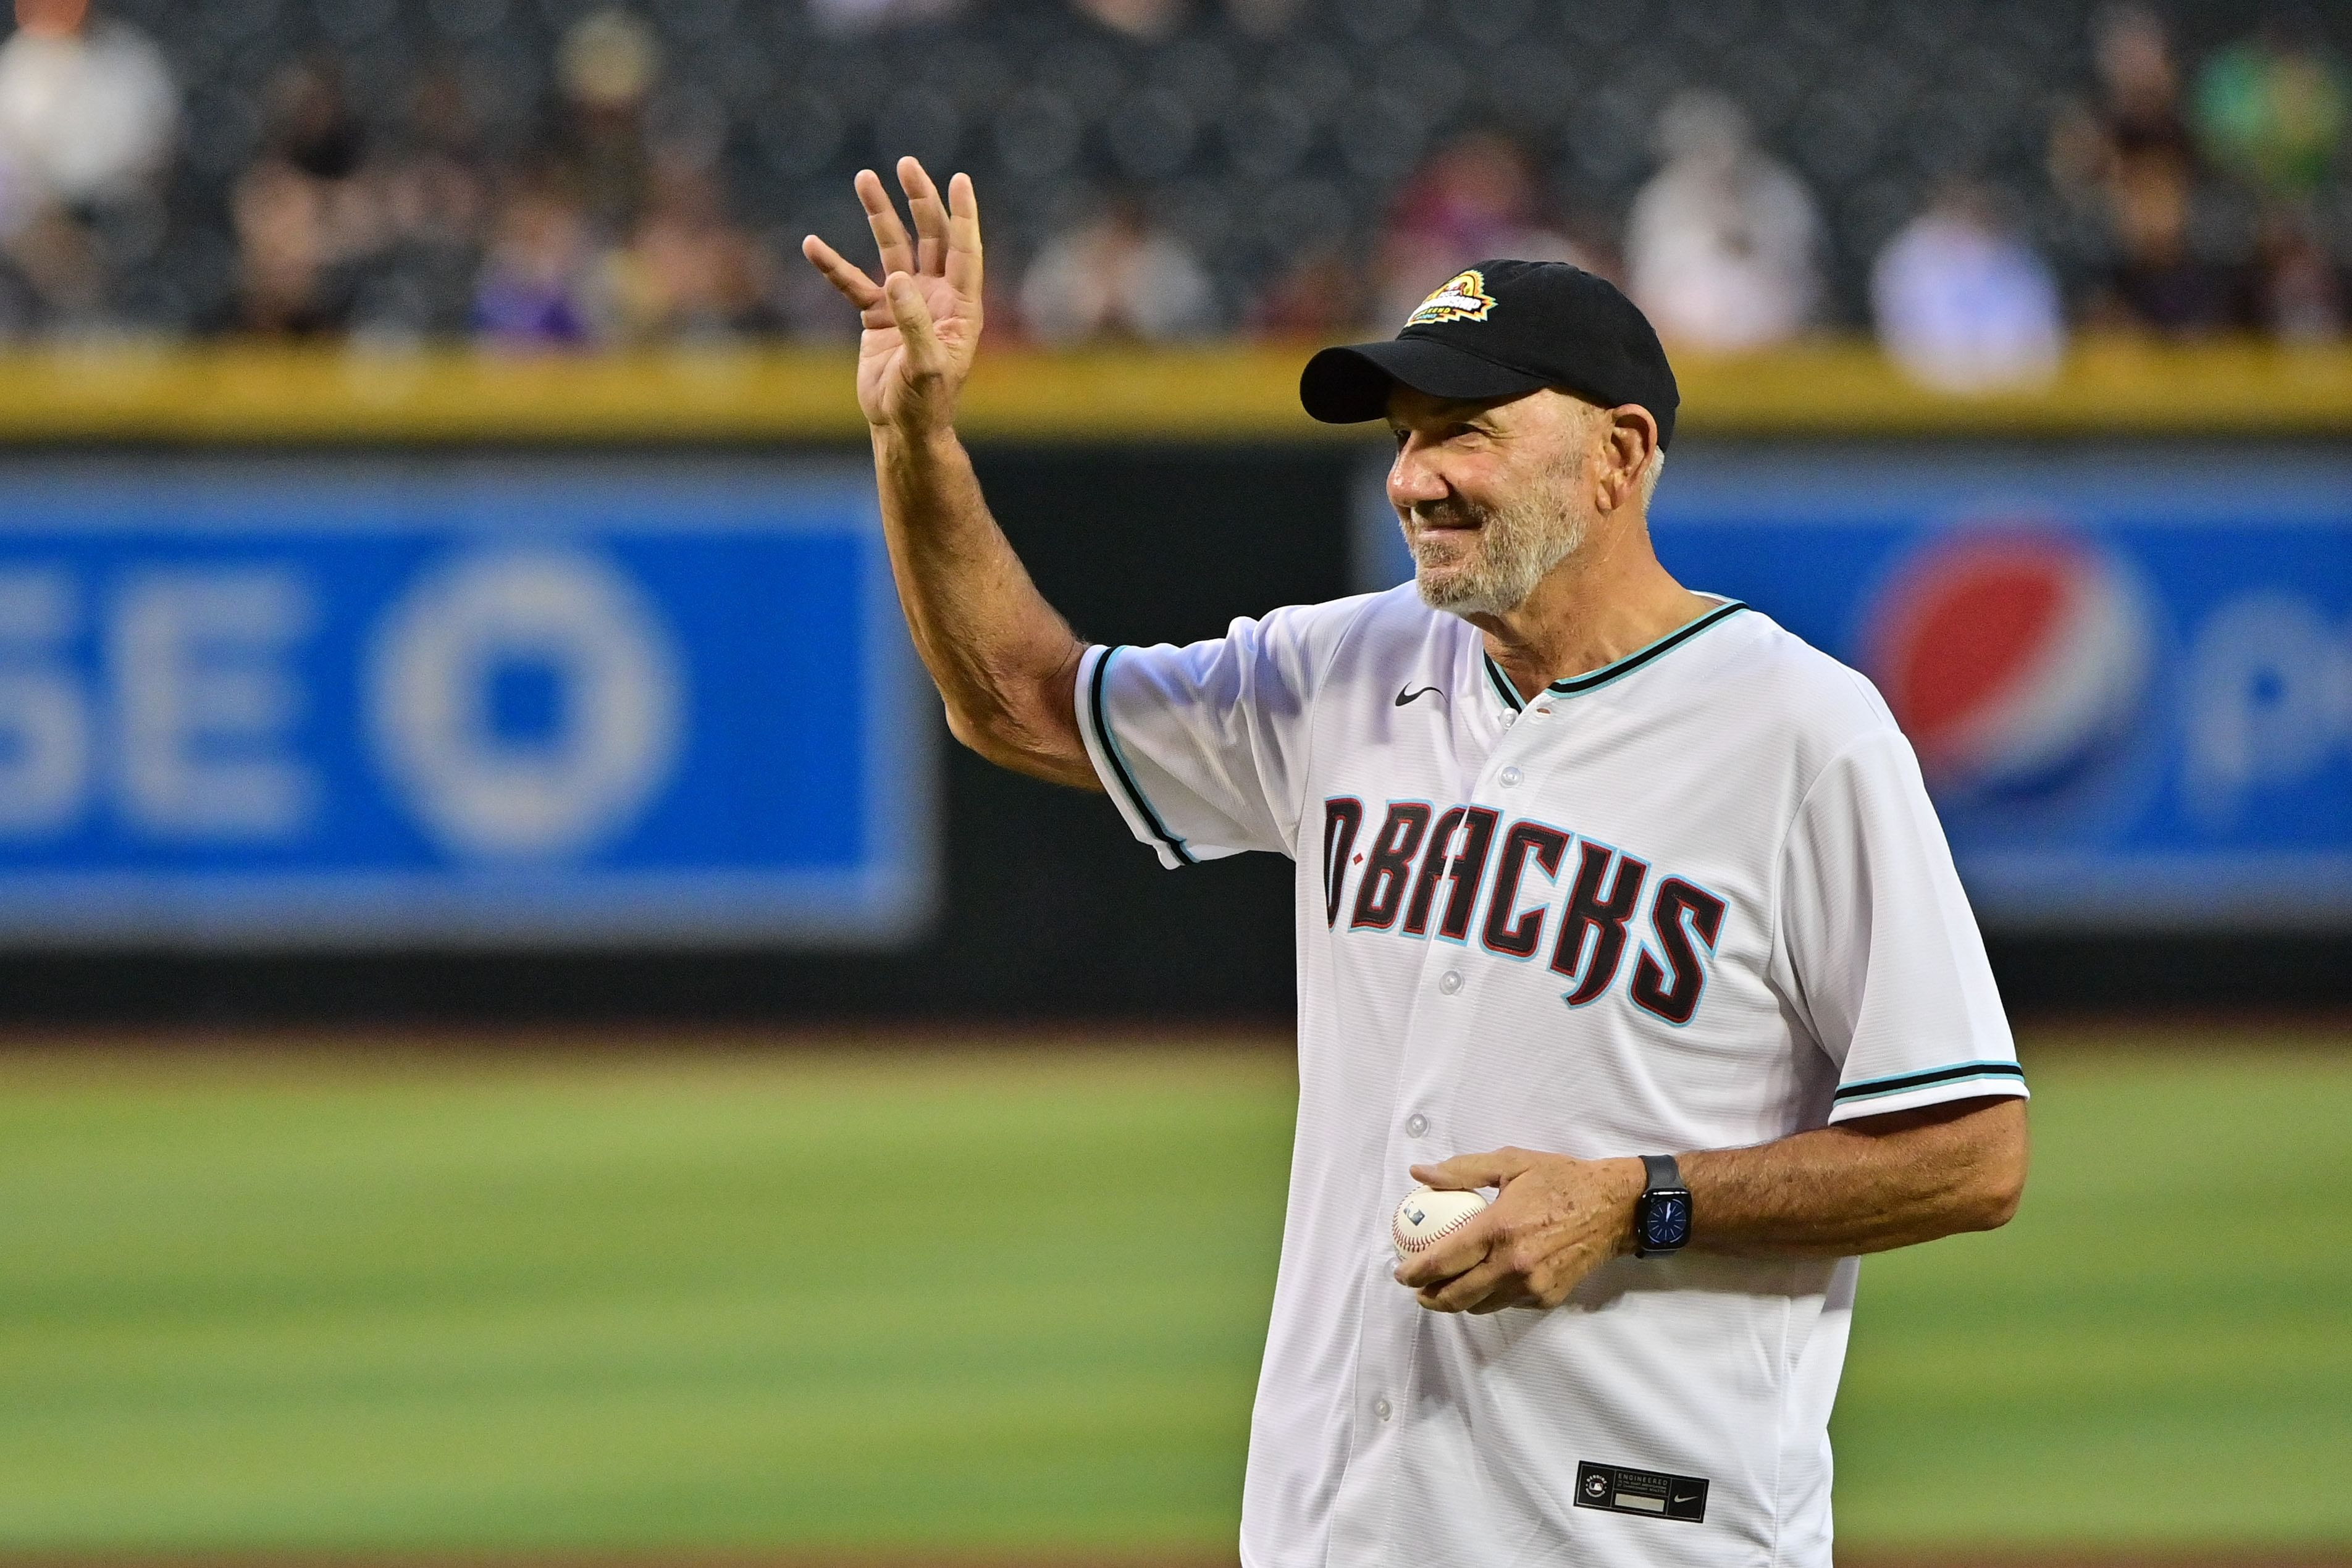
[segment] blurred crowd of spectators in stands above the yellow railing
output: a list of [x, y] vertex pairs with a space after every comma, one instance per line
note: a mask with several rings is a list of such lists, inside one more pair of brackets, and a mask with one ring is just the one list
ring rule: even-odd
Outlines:
[[[510, 19], [508, 0], [416, 2], [459, 38], [496, 38]], [[485, 78], [480, 49], [407, 52], [395, 68], [358, 42], [336, 47], [336, 38], [397, 26], [409, 0], [207, 0], [195, 9], [259, 16], [245, 35], [263, 54], [263, 40], [280, 35], [282, 5], [308, 5], [315, 26], [285, 33], [299, 42], [275, 59], [216, 52], [207, 71], [252, 78], [252, 92], [207, 87], [193, 99], [174, 52], [132, 14], [139, 7], [14, 0], [16, 28], [0, 42], [0, 336], [473, 336], [510, 348], [837, 336], [849, 322], [811, 287], [793, 252], [797, 228], [856, 237], [842, 221], [856, 219], [842, 169], [884, 162], [894, 127], [908, 148], [953, 148], [955, 94], [969, 87], [858, 73], [870, 73], [873, 47], [889, 35], [922, 40], [953, 71], [957, 40], [983, 38], [993, 7], [781, 2], [802, 28], [788, 45], [776, 28], [746, 26], [734, 0], [647, 0], [642, 12], [541, 0], [541, 21], [553, 16], [546, 59], [489, 56]], [[1858, 195], [1835, 197], [1776, 146], [1776, 127], [1757, 122], [1738, 82], [1661, 85], [1651, 73], [1649, 125], [1618, 155], [1628, 179], [1623, 200], [1609, 200], [1592, 181], [1578, 183], [1559, 136], [1529, 134], [1508, 113], [1463, 110], [1451, 125], [1430, 122], [1437, 134], [1397, 143], [1395, 122], [1423, 113], [1423, 92], [1451, 103], [1472, 96], [1444, 78], [1463, 71], [1428, 52], [1402, 78], [1392, 73], [1385, 103], [1345, 75], [1336, 87], [1291, 80], [1336, 71], [1329, 54], [1284, 56], [1305, 61], [1284, 66], [1284, 92], [1251, 96], [1230, 80], [1230, 52], [1185, 54], [1200, 5], [1051, 2], [1080, 40], [1073, 47], [1150, 61], [1145, 82], [1174, 87], [1122, 99], [1103, 120], [1110, 153], [1089, 165], [1082, 92], [1023, 96], [1018, 59], [1014, 80], [995, 85], [995, 162], [974, 172], [983, 207], [1000, 186], [1016, 188], [990, 223], [990, 313], [1004, 336], [1385, 331], [1451, 270], [1503, 254], [1616, 277], [1682, 348], [1740, 353], [1870, 327], [1919, 378], [1947, 388], [2046, 376], [2082, 327], [2312, 343], [2343, 339], [2352, 317], [2352, 85], [2324, 21], [2307, 12], [2281, 12], [2197, 59], [2183, 59], [2154, 9], [2089, 12], [2070, 56], [2079, 68], [2032, 99], [2030, 179], [2013, 158], [1994, 167], [1924, 155], [1905, 167], [1929, 174], [1907, 186], [1865, 181]], [[1524, 26], [1524, 0], [1491, 2]], [[656, 21], [687, 5], [717, 14], [717, 26], [682, 61], [675, 28]], [[1421, 0], [1362, 5], [1423, 19]], [[1329, 24], [1303, 0], [1214, 9], [1221, 38], [1244, 54], [1251, 40], [1275, 49]], [[167, 26], [165, 9], [146, 14]], [[1367, 14], [1350, 14], [1359, 35], [1369, 35]], [[1383, 47], [1404, 59], [1411, 45], [1402, 33]], [[1670, 45], [1632, 35], [1621, 47], [1644, 59]], [[760, 49], [809, 59], [757, 59]], [[971, 59], [985, 66], [990, 56]], [[1517, 87], [1522, 96], [1543, 96], [1543, 59], [1512, 54], [1519, 75], [1536, 78]], [[786, 78], [823, 87], [828, 61], [840, 61], [837, 94], [788, 87]], [[1435, 82], [1416, 85], [1414, 66]], [[739, 80], [680, 92], [694, 73]], [[873, 110], [875, 153], [856, 158], [837, 106], [866, 80], [894, 96]], [[1322, 110], [1317, 96], [1329, 101]], [[746, 99], [753, 108], [736, 113]], [[1192, 120], [1204, 101], [1237, 103], [1223, 165], [1197, 153]], [[1056, 122], [1051, 103], [1080, 110], [1063, 108]], [[1237, 273], [1218, 254], [1230, 219], [1200, 221], [1235, 200], [1204, 190], [1200, 169], [1209, 167], [1209, 186], [1218, 167], [1247, 179], [1254, 158], [1303, 134], [1284, 113], [1324, 113], [1348, 179], [1270, 186], [1261, 259]], [[1966, 120], [1969, 103], [1957, 113]], [[1978, 113], [2006, 115], [1990, 101]], [[1835, 113], [1820, 118], [1792, 103], [1778, 129], [1785, 139], [1802, 127], [1813, 162], [1830, 167], [1837, 148], [1828, 143], [1842, 132]], [[1971, 146], [1999, 146], [2016, 129], [1994, 127]], [[1936, 120], [1912, 134], [1933, 139]], [[1573, 141], [1573, 129], [1562, 136]], [[746, 139], [764, 160], [734, 155]], [[1390, 146], [1409, 155], [1381, 153]], [[1303, 155], [1289, 158], [1284, 169]], [[793, 193], [835, 190], [833, 207], [760, 200], [776, 169], [800, 181]], [[1023, 169], [1047, 197], [1018, 195]], [[1842, 254], [1851, 256], [1846, 275]]]

